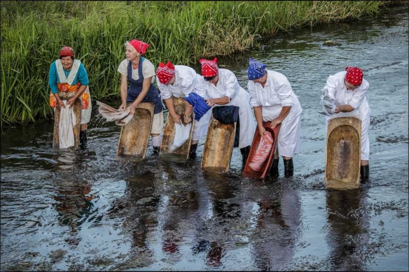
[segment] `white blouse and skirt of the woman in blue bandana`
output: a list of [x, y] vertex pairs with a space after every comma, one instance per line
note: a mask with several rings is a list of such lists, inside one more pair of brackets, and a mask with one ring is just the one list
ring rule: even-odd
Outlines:
[[279, 155], [293, 157], [299, 152], [302, 107], [286, 76], [267, 70], [264, 88], [260, 83], [250, 80], [247, 89], [251, 96], [251, 105], [262, 106], [264, 122], [273, 121], [280, 115], [284, 106], [291, 106], [289, 114], [281, 123], [277, 149]]

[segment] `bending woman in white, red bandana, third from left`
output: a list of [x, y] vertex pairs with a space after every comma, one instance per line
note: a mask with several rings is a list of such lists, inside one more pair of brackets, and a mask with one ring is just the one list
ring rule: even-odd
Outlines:
[[[159, 64], [156, 72], [156, 82], [158, 84], [159, 91], [161, 91], [162, 99], [164, 99], [169, 113], [175, 123], [181, 123], [180, 115], [176, 114], [175, 106], [173, 103], [173, 96], [185, 97], [189, 93], [197, 93], [199, 90], [195, 89], [196, 82], [200, 82], [201, 76], [199, 76], [195, 70], [188, 66], [173, 65], [170, 61], [165, 65], [162, 62]], [[198, 93], [200, 96], [205, 97], [206, 93]], [[184, 123], [188, 124], [192, 122], [191, 113], [193, 107], [185, 101], [186, 110], [183, 115]], [[198, 122], [194, 124], [192, 143], [190, 146], [189, 158], [196, 158], [197, 143], [206, 135], [207, 127], [210, 120], [210, 111], [204, 114]]]

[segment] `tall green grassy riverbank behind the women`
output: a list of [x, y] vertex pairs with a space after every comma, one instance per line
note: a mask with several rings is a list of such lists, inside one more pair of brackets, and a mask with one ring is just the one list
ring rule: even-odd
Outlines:
[[[189, 65], [252, 46], [260, 34], [373, 16], [393, 1], [1, 1], [1, 129], [53, 116], [48, 71], [72, 46], [96, 99], [118, 99], [123, 43]], [[396, 2], [396, 1], [395, 1]]]

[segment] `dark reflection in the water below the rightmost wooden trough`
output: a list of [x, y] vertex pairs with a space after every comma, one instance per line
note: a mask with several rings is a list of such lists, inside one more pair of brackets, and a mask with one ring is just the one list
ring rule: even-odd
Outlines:
[[366, 194], [360, 189], [328, 190], [329, 232], [327, 242], [333, 271], [366, 271], [362, 254], [369, 240], [368, 215], [365, 213]]

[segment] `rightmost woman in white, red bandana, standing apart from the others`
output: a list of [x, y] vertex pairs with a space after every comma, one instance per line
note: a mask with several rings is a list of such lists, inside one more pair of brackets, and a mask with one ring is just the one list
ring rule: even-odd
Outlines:
[[366, 93], [369, 83], [363, 79], [363, 72], [358, 67], [348, 66], [345, 71], [329, 76], [323, 91], [328, 91], [335, 106], [334, 114], [325, 119], [326, 127], [328, 120], [334, 117], [356, 117], [361, 122], [361, 166], [360, 179], [365, 181], [369, 178], [369, 108]]

